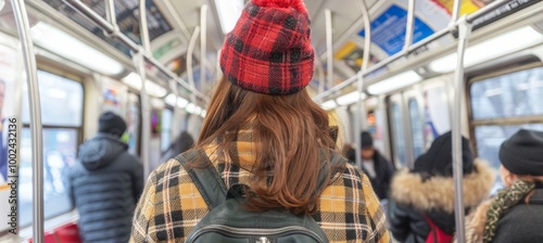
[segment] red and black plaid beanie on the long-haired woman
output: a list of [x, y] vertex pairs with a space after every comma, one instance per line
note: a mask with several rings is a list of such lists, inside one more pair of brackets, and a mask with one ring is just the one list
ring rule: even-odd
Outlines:
[[314, 59], [302, 0], [251, 0], [226, 35], [220, 68], [242, 89], [291, 94], [310, 84]]

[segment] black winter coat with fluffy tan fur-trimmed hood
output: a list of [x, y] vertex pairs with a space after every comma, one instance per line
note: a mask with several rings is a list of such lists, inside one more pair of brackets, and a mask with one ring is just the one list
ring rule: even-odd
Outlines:
[[[464, 176], [464, 205], [466, 210], [478, 206], [490, 194], [494, 182], [492, 169], [476, 159], [475, 170]], [[430, 233], [428, 217], [443, 232], [453, 234], [454, 181], [452, 177], [431, 177], [402, 170], [392, 180], [390, 230], [400, 242], [426, 242]]]

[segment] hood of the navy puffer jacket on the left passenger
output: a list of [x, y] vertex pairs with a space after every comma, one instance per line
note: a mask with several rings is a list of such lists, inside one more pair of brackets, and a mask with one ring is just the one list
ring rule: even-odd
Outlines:
[[96, 170], [110, 165], [128, 149], [128, 144], [118, 138], [99, 133], [79, 146], [79, 162], [88, 170]]

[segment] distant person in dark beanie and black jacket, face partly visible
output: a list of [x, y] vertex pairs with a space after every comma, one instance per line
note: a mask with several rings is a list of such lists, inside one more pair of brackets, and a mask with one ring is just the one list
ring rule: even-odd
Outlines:
[[369, 177], [379, 200], [387, 200], [394, 166], [374, 148], [374, 139], [369, 132], [363, 131], [361, 139], [362, 170]]

